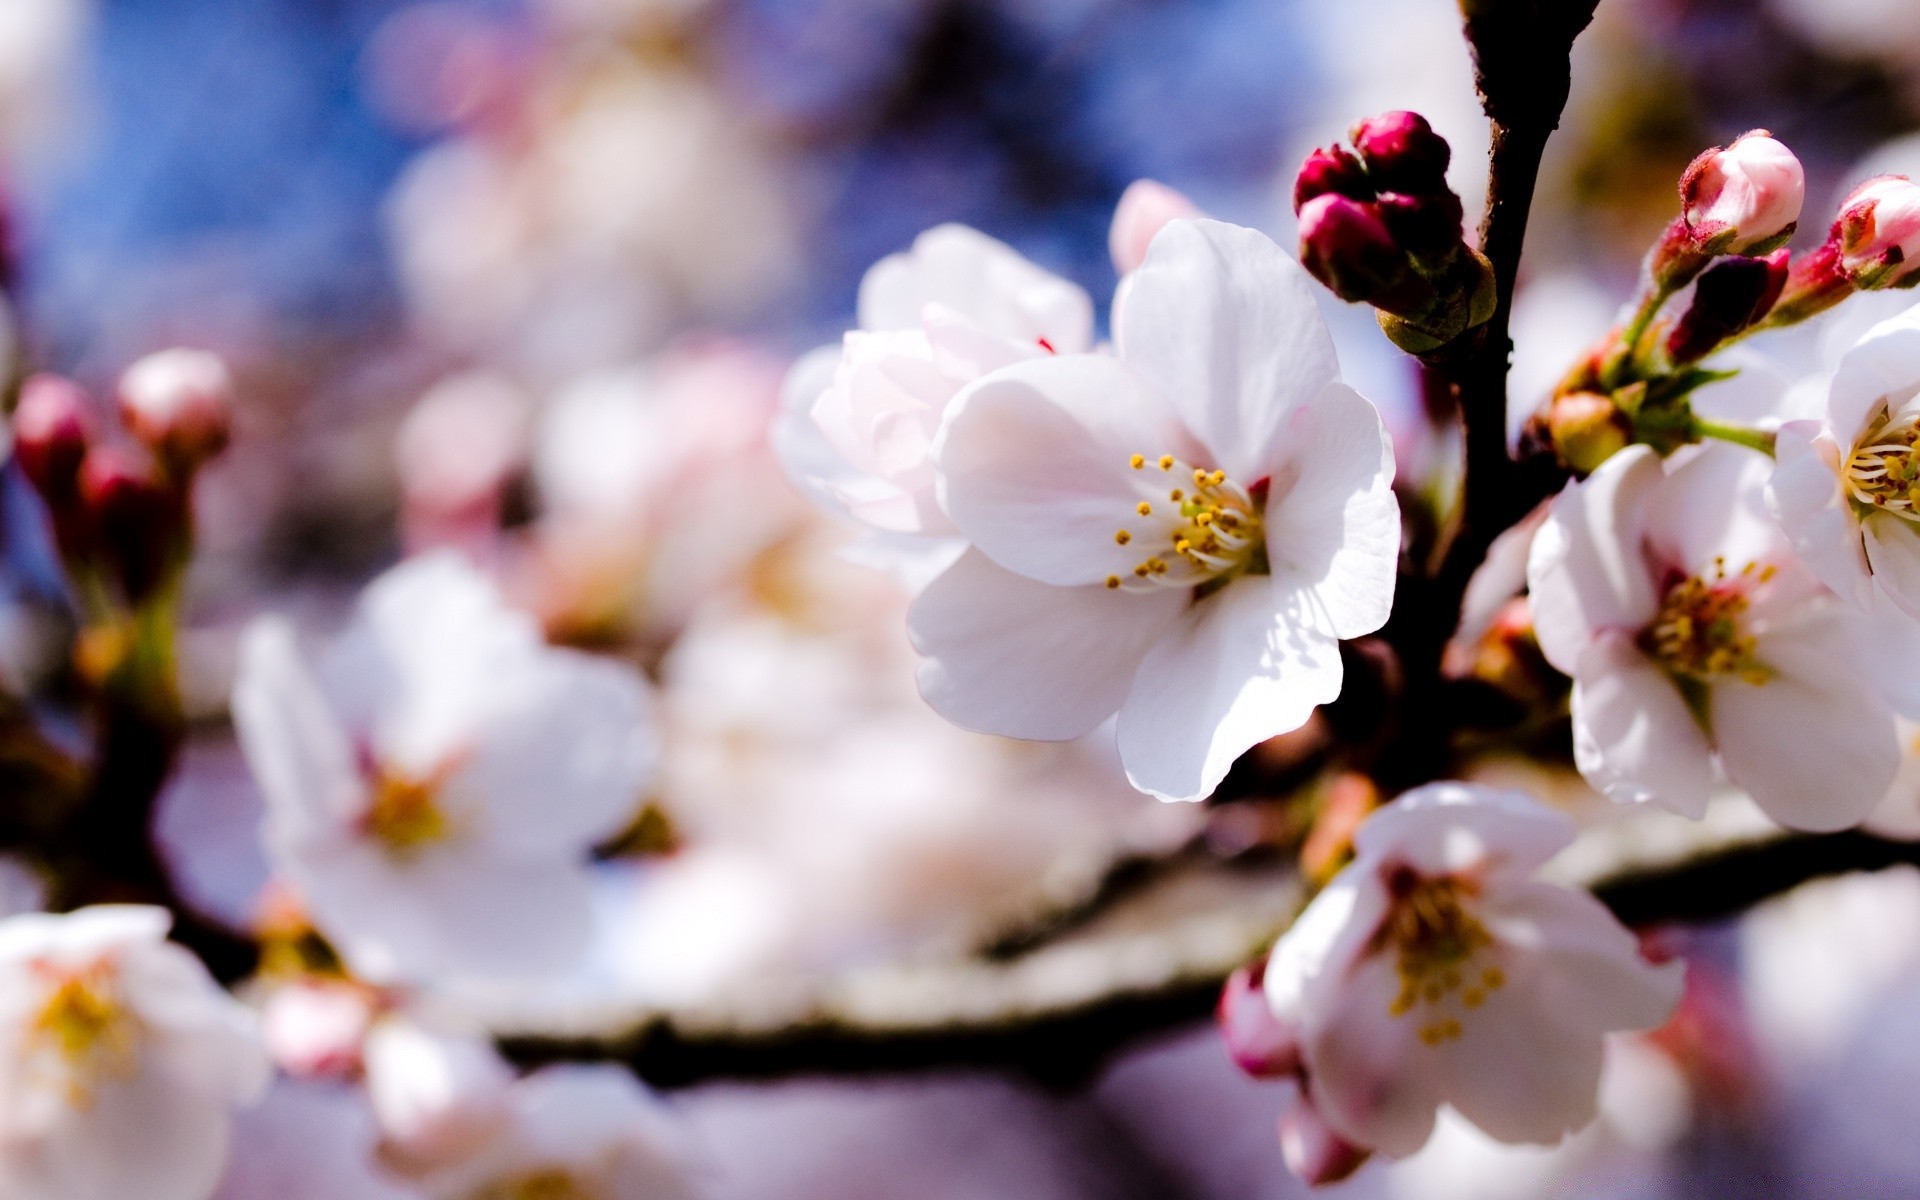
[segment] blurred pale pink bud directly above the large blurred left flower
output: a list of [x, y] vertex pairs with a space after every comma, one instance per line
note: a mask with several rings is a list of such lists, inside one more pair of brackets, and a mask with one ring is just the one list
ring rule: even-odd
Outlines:
[[526, 465], [532, 403], [507, 376], [468, 371], [440, 380], [394, 434], [407, 545], [486, 545]]

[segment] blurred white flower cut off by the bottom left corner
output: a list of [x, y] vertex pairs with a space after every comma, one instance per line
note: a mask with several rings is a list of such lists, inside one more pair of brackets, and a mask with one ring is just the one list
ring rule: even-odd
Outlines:
[[213, 1190], [269, 1064], [252, 1014], [167, 924], [121, 904], [0, 922], [0, 1196]]

